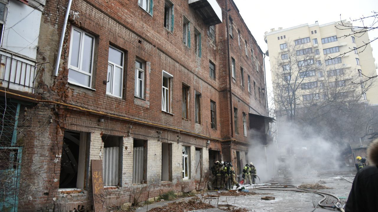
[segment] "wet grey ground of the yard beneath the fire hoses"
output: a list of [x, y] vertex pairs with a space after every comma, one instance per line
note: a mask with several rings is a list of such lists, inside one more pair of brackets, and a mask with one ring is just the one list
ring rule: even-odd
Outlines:
[[[274, 188], [274, 189], [282, 189], [282, 190], [260, 190], [259, 188], [266, 187], [266, 186], [277, 186], [277, 185], [294, 185], [298, 186], [303, 183], [322, 183], [322, 185], [330, 187], [330, 189], [321, 189], [319, 191], [333, 194], [336, 197], [340, 198], [341, 205], [345, 204], [346, 198], [349, 195], [350, 188], [352, 187], [352, 183], [348, 182], [353, 181], [355, 176], [355, 171], [353, 169], [343, 169], [342, 171], [324, 171], [314, 173], [311, 177], [296, 177], [296, 178], [289, 178], [289, 177], [276, 177], [271, 179], [267, 182], [260, 182], [256, 186], [249, 186], [246, 185], [245, 188], [250, 190], [251, 192], [256, 192], [255, 195], [246, 195], [246, 196], [218, 196], [217, 192], [205, 192], [203, 196], [198, 195], [203, 201], [214, 205], [215, 207], [222, 206], [222, 205], [232, 205], [237, 207], [242, 207], [248, 209], [248, 211], [253, 212], [325, 212], [325, 211], [338, 211], [337, 209], [332, 208], [321, 208], [318, 206], [318, 201], [320, 201], [323, 197], [314, 194], [314, 193], [305, 193], [305, 192], [295, 192], [289, 191], [290, 190], [298, 190], [295, 187], [288, 187], [288, 188]], [[343, 179], [344, 177], [345, 179]], [[259, 181], [257, 181], [259, 183]], [[226, 192], [225, 190], [221, 192]], [[268, 194], [267, 194], [268, 193]], [[208, 196], [208, 195], [211, 195]], [[262, 200], [261, 197], [270, 196], [274, 197], [274, 200]], [[324, 205], [333, 206], [333, 202], [336, 203], [336, 199], [330, 197], [328, 195], [327, 199], [322, 202]], [[180, 200], [176, 200], [180, 201]], [[155, 206], [163, 206], [167, 202], [160, 202], [157, 204], [152, 204], [149, 208]], [[314, 207], [316, 206], [316, 208]], [[315, 210], [314, 210], [315, 209]], [[136, 210], [136, 212], [147, 211], [145, 207], [141, 207]], [[215, 211], [222, 211], [218, 209], [206, 209], [206, 210], [196, 210], [196, 212], [215, 212]], [[224, 210], [223, 210], [224, 211]]]

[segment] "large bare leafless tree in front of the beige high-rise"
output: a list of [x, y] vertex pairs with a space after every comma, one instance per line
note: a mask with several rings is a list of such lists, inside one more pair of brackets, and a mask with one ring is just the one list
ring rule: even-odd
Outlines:
[[365, 98], [372, 80], [352, 83], [357, 70], [320, 58], [306, 43], [288, 44], [276, 61], [272, 74], [277, 118], [295, 121], [304, 132], [311, 128], [336, 143], [355, 140], [372, 129], [374, 114]]

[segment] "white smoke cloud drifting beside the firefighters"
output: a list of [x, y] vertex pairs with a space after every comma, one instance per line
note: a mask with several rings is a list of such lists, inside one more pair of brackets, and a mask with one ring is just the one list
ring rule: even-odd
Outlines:
[[[276, 140], [268, 145], [254, 137], [248, 151], [261, 182], [272, 177], [315, 176], [319, 171], [336, 170], [340, 164], [338, 147], [322, 138], [310, 126], [277, 121]], [[259, 180], [257, 180], [259, 183]]]

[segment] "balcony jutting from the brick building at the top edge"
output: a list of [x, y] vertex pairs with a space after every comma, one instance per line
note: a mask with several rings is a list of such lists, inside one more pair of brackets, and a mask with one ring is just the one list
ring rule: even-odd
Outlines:
[[197, 11], [206, 25], [222, 23], [222, 9], [216, 0], [188, 0], [188, 3]]

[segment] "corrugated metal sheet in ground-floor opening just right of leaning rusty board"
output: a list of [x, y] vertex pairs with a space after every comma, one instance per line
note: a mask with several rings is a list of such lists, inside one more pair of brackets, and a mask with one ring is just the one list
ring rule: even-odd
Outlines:
[[117, 186], [119, 182], [119, 147], [105, 147], [104, 161], [104, 186]]

